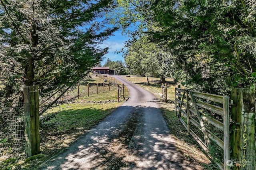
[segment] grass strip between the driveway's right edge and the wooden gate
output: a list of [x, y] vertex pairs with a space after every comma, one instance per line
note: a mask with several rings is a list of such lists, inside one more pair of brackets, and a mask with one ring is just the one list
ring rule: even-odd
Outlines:
[[152, 92], [160, 100], [163, 116], [174, 139], [176, 139], [176, 147], [183, 153], [185, 159], [192, 164], [194, 169], [218, 169], [216, 164], [209, 160], [208, 156], [202, 151], [203, 149], [201, 149], [196, 140], [186, 131], [186, 128], [177, 118], [175, 111], [175, 85], [172, 84], [172, 79], [166, 79], [168, 86], [168, 103], [166, 103], [162, 99], [160, 78], [149, 78], [151, 86], [148, 85], [146, 77], [131, 76], [124, 78]]

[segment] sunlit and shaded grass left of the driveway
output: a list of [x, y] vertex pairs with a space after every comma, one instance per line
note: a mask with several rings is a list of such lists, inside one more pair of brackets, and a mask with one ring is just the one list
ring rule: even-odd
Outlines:
[[[89, 97], [88, 94], [84, 94], [77, 99], [78, 90], [74, 88], [65, 94], [63, 102], [60, 99], [59, 106], [48, 109], [40, 117], [41, 154], [27, 159], [24, 154], [5, 155], [2, 160], [0, 158], [0, 169], [34, 169], [41, 162], [69, 147], [72, 142], [100, 123], [102, 119], [112, 113], [124, 101], [117, 102], [117, 89], [114, 86], [110, 90], [106, 86], [104, 93], [103, 90], [99, 90], [99, 94], [97, 94], [96, 83], [103, 82], [103, 79], [99, 77], [93, 76], [91, 80], [86, 80], [86, 83], [83, 84], [82, 82], [80, 85], [81, 92], [83, 90], [87, 92], [87, 82], [92, 84]], [[118, 84], [121, 83], [118, 82]], [[128, 88], [125, 87], [125, 98], [128, 95]]]

